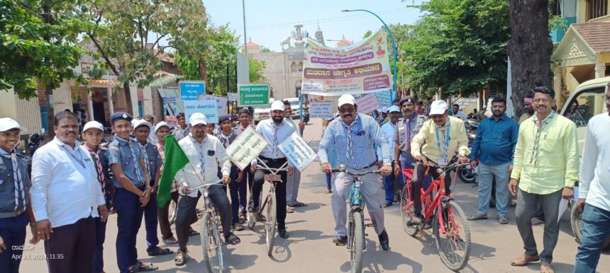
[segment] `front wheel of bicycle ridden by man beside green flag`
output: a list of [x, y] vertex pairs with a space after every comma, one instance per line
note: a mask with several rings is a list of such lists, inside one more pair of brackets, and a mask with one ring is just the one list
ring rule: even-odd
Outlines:
[[222, 245], [212, 214], [206, 213], [204, 215], [199, 236], [201, 236], [201, 248], [204, 250], [206, 269], [208, 269], [208, 272], [223, 272]]

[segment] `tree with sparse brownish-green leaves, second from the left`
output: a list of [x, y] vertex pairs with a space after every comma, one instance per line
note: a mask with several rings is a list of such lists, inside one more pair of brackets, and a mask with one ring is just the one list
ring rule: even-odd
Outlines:
[[[159, 54], [174, 45], [186, 47], [184, 37], [197, 41], [194, 33], [201, 35], [207, 20], [204, 5], [196, 0], [87, 0], [80, 11], [92, 23], [87, 37], [106, 68], [123, 83], [132, 113], [129, 84], [144, 87], [153, 81], [161, 68]], [[168, 45], [160, 45], [162, 39]]]

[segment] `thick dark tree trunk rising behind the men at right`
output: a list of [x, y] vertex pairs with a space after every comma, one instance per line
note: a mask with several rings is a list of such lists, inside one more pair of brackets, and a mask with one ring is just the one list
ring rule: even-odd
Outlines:
[[523, 98], [536, 86], [550, 86], [548, 0], [509, 0], [511, 8], [511, 100], [516, 118], [523, 114]]

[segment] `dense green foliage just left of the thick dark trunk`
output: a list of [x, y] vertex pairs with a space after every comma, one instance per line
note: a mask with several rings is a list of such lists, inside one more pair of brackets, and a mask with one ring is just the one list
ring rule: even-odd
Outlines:
[[[509, 4], [504, 0], [431, 0], [401, 45], [407, 85], [470, 95], [506, 84]], [[395, 33], [396, 35], [396, 33]]]

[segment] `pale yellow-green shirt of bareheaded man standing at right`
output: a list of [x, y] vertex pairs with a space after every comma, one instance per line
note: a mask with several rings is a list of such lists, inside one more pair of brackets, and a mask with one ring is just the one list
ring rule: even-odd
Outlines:
[[536, 156], [537, 128], [535, 115], [521, 123], [511, 178], [519, 181], [521, 190], [533, 194], [574, 187], [579, 170], [576, 124], [558, 114], [543, 122]]

